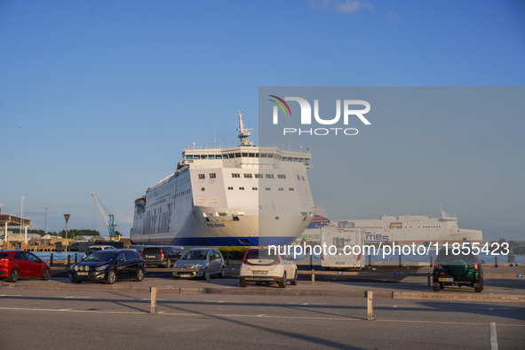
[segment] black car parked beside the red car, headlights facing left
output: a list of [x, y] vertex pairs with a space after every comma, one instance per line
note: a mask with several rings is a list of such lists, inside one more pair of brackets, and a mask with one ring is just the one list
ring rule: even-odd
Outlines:
[[139, 252], [132, 249], [95, 251], [69, 268], [71, 282], [106, 282], [133, 278], [140, 282], [146, 274], [146, 263]]

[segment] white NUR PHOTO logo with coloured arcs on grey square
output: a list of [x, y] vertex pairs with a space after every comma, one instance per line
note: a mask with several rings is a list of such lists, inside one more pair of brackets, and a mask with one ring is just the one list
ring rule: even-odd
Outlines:
[[[301, 125], [312, 125], [312, 105], [306, 99], [300, 97], [285, 97], [281, 99], [275, 95], [268, 95], [273, 99], [269, 99], [271, 102], [274, 102], [274, 114], [273, 114], [273, 123], [274, 125], [279, 124], [279, 107], [282, 110], [284, 115], [290, 115], [291, 110], [290, 106], [286, 101], [295, 101], [298, 102], [300, 107], [300, 123]], [[322, 127], [322, 128], [282, 128], [282, 134], [286, 135], [289, 133], [295, 133], [298, 135], [318, 135], [324, 136], [329, 134], [334, 135], [357, 135], [359, 131], [356, 128], [347, 128], [351, 118], [357, 117], [363, 124], [371, 125], [369, 120], [364, 116], [370, 112], [370, 103], [363, 99], [344, 99], [341, 107], [341, 99], [336, 99], [336, 115], [335, 116], [321, 116], [319, 115], [319, 99], [314, 99], [314, 123], [321, 125], [336, 125], [341, 124], [341, 115], [343, 116], [342, 124], [345, 127]], [[364, 108], [356, 108], [358, 106]]]

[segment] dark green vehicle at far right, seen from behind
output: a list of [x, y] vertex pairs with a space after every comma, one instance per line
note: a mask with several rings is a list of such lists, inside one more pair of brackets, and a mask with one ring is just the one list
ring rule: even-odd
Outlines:
[[[457, 252], [457, 251], [454, 251]], [[454, 254], [449, 248], [441, 248], [434, 262], [434, 291], [440, 291], [445, 285], [467, 285], [477, 293], [483, 290], [483, 270], [478, 256], [472, 252]]]

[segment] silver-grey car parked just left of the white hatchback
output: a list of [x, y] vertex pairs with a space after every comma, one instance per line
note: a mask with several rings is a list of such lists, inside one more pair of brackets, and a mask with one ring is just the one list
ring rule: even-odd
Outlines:
[[[203, 277], [207, 274], [218, 274], [219, 277], [224, 277], [226, 272], [219, 271], [220, 268], [225, 268], [224, 258], [220, 251], [212, 248], [194, 248], [187, 251], [182, 258], [177, 260], [173, 268], [178, 268], [179, 271], [173, 273], [174, 278], [179, 277]], [[200, 268], [200, 271], [185, 271], [186, 268]]]

